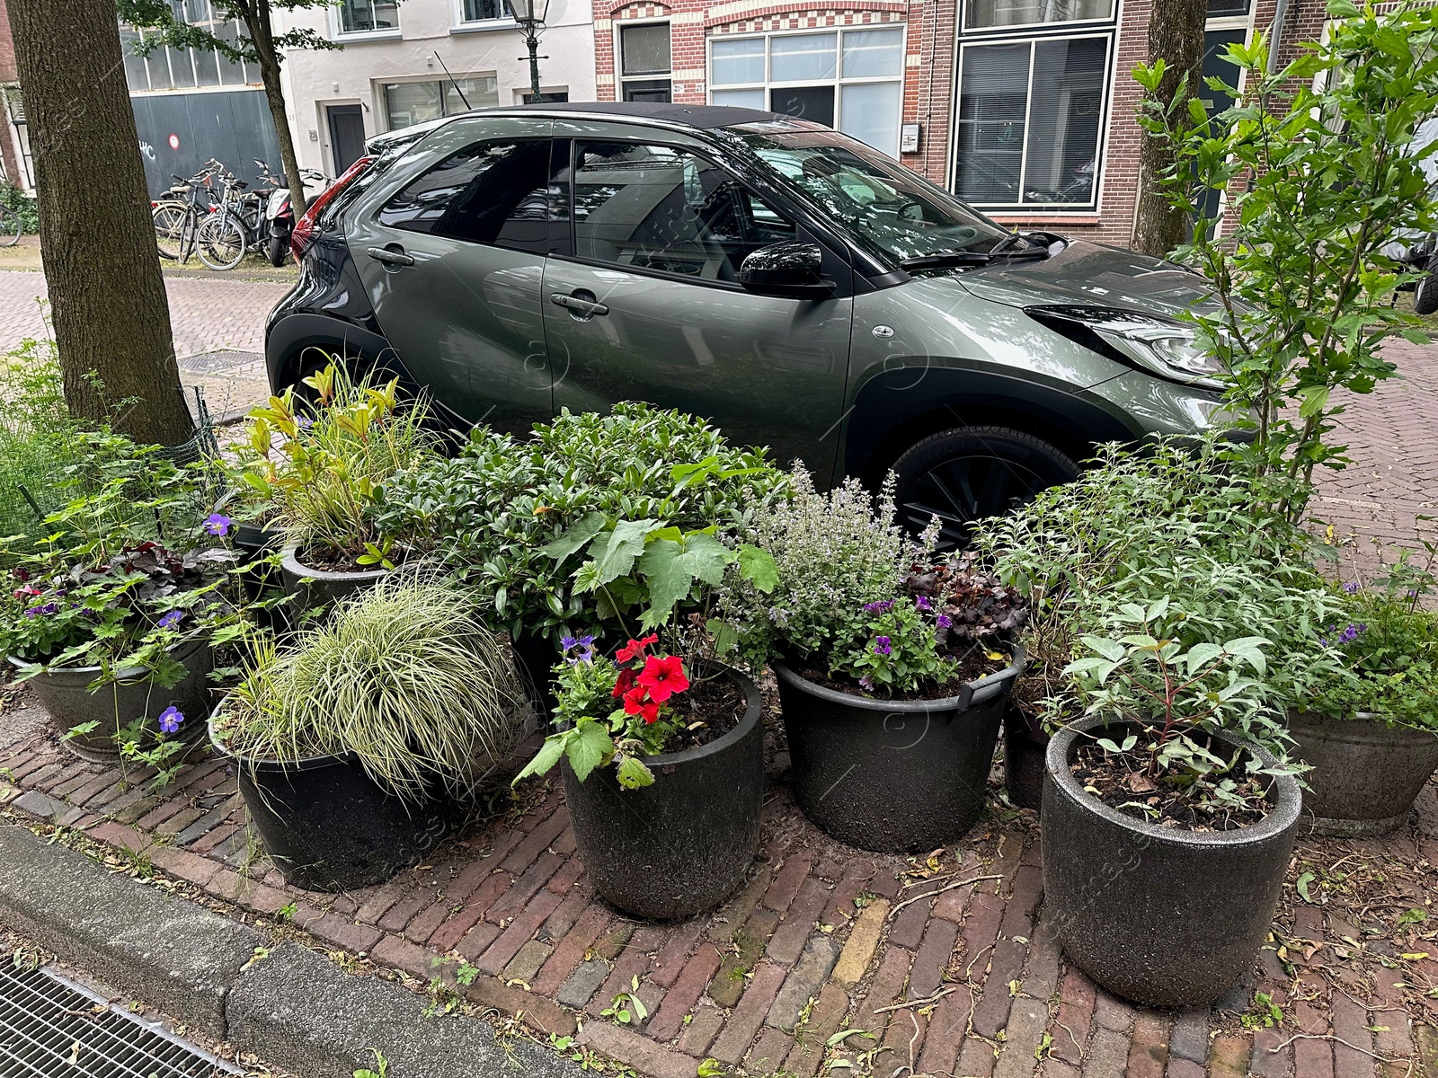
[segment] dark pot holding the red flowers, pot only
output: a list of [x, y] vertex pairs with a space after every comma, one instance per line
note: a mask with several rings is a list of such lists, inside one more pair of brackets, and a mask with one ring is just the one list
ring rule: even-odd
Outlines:
[[647, 756], [654, 783], [623, 789], [614, 768], [580, 782], [568, 759], [564, 796], [594, 888], [624, 913], [670, 921], [719, 906], [759, 849], [764, 811], [762, 704], [754, 681], [709, 667], [745, 696], [743, 719], [709, 745]]

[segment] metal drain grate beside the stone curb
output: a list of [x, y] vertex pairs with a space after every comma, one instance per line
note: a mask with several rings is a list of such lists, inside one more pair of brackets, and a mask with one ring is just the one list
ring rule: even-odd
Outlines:
[[240, 1071], [46, 969], [0, 967], [3, 1078], [221, 1078]]

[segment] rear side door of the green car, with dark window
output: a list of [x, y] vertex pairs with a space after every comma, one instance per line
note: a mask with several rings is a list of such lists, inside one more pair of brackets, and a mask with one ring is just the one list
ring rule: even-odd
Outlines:
[[429, 168], [351, 214], [349, 250], [400, 362], [440, 404], [496, 430], [552, 414], [539, 306], [549, 125], [450, 124], [430, 139]]

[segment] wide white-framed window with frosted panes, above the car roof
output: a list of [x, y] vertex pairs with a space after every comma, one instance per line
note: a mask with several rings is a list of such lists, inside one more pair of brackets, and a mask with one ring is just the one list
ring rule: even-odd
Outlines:
[[713, 37], [709, 101], [824, 124], [899, 155], [903, 30]]

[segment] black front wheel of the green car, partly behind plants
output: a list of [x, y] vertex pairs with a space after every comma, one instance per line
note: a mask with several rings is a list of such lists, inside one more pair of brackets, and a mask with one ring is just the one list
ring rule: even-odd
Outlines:
[[1012, 512], [1080, 474], [1061, 450], [1007, 427], [930, 434], [893, 469], [899, 523], [917, 535], [938, 516], [939, 549], [946, 550], [968, 545], [976, 520]]

